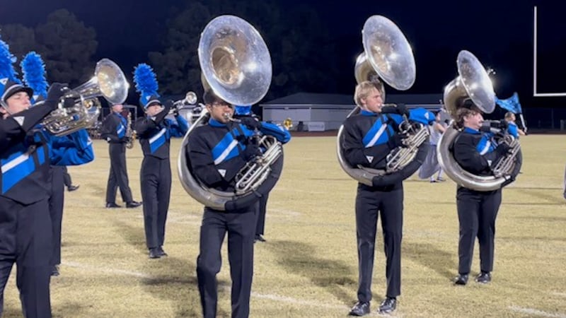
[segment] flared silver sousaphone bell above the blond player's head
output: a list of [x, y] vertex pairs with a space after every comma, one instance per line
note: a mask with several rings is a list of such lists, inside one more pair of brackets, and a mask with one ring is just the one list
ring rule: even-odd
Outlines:
[[362, 30], [367, 60], [383, 81], [397, 90], [415, 83], [417, 69], [409, 41], [393, 21], [371, 16]]

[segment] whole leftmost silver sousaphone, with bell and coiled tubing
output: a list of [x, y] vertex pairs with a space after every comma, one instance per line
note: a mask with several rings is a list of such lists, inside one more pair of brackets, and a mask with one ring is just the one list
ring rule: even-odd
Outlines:
[[[269, 50], [258, 30], [237, 16], [214, 18], [202, 31], [198, 47], [202, 84], [232, 105], [253, 105], [267, 93], [272, 78]], [[236, 176], [236, 191], [221, 192], [202, 184], [192, 172], [188, 139], [195, 128], [208, 122], [203, 107], [181, 143], [178, 173], [193, 199], [216, 210], [233, 210], [258, 201], [275, 186], [283, 165], [282, 146], [271, 136], [266, 149]]]

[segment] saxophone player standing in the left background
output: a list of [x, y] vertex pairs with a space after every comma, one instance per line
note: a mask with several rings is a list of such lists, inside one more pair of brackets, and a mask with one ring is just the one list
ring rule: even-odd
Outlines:
[[112, 112], [104, 119], [100, 126], [100, 136], [108, 141], [110, 153], [110, 175], [106, 187], [106, 208], [120, 208], [116, 204], [116, 191], [120, 187], [122, 201], [126, 208], [141, 206], [140, 202], [132, 198], [132, 190], [129, 189], [128, 172], [126, 166], [126, 136], [127, 120], [122, 114], [122, 104], [112, 105]]

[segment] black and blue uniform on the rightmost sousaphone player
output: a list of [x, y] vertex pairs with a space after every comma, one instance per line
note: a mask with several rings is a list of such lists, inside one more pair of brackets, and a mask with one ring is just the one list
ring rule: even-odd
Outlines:
[[[474, 175], [492, 175], [490, 165], [507, 153], [504, 145], [495, 148], [489, 134], [465, 128], [454, 140], [454, 160]], [[458, 273], [468, 275], [475, 237], [480, 243], [480, 270], [493, 270], [495, 219], [501, 205], [502, 190], [476, 191], [458, 185], [456, 203], [460, 223]]]

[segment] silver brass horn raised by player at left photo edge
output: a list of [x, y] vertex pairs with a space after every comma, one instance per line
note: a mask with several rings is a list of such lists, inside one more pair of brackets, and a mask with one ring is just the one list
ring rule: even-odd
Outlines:
[[[99, 96], [110, 104], [121, 104], [127, 98], [129, 84], [124, 73], [110, 59], [101, 59], [96, 64], [94, 76], [81, 86], [65, 93], [57, 110], [52, 111], [42, 124], [45, 129], [55, 136], [71, 134], [79, 129], [96, 124], [100, 114]], [[67, 101], [73, 105], [67, 107]]]

